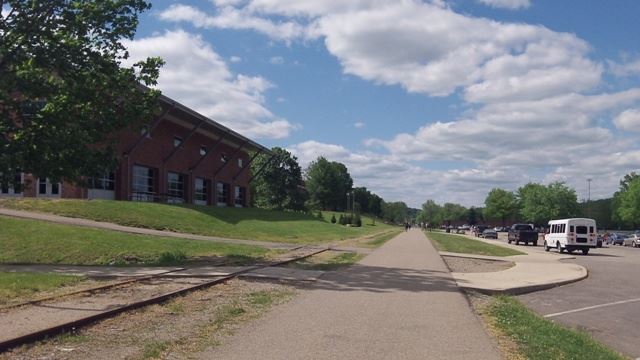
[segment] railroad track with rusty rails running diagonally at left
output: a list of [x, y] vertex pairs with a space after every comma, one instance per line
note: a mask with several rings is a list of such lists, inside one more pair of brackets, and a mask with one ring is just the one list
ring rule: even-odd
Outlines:
[[[123, 312], [222, 284], [252, 271], [285, 265], [327, 250], [327, 247], [296, 248], [278, 260], [246, 267], [214, 279], [167, 278], [186, 270], [179, 269], [5, 307], [0, 309], [1, 328], [5, 329], [0, 329], [0, 352], [72, 331]], [[139, 293], [136, 294], [136, 291]], [[128, 301], [132, 298], [135, 300]], [[47, 325], [38, 326], [31, 320], [42, 318], [51, 321]]]

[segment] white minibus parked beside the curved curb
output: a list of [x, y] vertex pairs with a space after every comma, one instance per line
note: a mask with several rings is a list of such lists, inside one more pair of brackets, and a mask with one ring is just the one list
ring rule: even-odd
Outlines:
[[583, 255], [589, 253], [590, 248], [597, 247], [598, 229], [593, 219], [574, 218], [549, 221], [549, 230], [544, 235], [544, 250], [558, 249], [573, 252], [581, 250]]

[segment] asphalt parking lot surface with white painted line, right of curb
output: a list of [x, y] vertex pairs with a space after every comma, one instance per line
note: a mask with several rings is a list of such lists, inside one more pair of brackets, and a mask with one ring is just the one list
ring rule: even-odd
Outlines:
[[570, 261], [586, 267], [577, 283], [519, 296], [548, 319], [585, 330], [598, 341], [640, 357], [640, 249], [609, 246]]

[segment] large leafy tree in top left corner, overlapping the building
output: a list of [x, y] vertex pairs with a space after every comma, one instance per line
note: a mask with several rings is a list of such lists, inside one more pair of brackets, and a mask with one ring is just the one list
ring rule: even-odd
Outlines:
[[[111, 136], [157, 109], [159, 58], [124, 67], [143, 0], [0, 1], [0, 182], [112, 170]], [[111, 140], [110, 140], [111, 139]]]

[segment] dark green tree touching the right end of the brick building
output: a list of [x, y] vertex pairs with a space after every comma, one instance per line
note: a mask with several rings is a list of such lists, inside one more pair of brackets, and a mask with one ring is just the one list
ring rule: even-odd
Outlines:
[[280, 147], [274, 147], [271, 152], [271, 155], [259, 155], [251, 165], [255, 172], [262, 170], [253, 181], [255, 206], [276, 210], [304, 210], [307, 195], [298, 159]]

